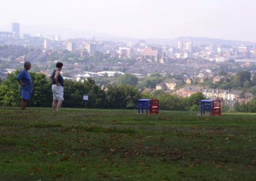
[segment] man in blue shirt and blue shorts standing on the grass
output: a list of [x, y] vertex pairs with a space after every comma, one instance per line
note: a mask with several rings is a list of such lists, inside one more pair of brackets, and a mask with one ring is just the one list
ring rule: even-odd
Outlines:
[[28, 70], [31, 68], [30, 62], [24, 62], [24, 69], [17, 76], [17, 81], [20, 83], [21, 94], [21, 110], [25, 110], [32, 93], [32, 80]]

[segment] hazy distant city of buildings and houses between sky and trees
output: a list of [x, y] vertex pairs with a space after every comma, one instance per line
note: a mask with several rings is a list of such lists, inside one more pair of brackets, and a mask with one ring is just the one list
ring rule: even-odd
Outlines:
[[[203, 85], [194, 88], [192, 85], [202, 84], [205, 79], [212, 83], [221, 81], [221, 78], [223, 80], [220, 71], [225, 71], [227, 76], [243, 70], [255, 75], [256, 43], [253, 42], [185, 36], [173, 40], [113, 41], [98, 40], [97, 37], [63, 40], [58, 34], [21, 36], [21, 27], [19, 23], [13, 22], [12, 31], [0, 31], [2, 79], [8, 73], [21, 69], [25, 61], [32, 63], [31, 71], [49, 76], [56, 62], [61, 61], [64, 64], [63, 76], [74, 81], [125, 73], [138, 78], [159, 74], [171, 78], [166, 78], [156, 87], [147, 87], [150, 91], [176, 91], [180, 94], [177, 87], [189, 85], [181, 91], [181, 96], [189, 96], [193, 90], [210, 90]], [[99, 81], [99, 84], [104, 83]], [[189, 91], [184, 93], [184, 90]], [[236, 98], [239, 96], [233, 95], [232, 99]]]

